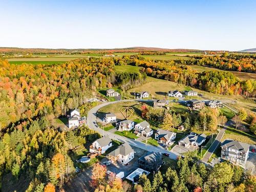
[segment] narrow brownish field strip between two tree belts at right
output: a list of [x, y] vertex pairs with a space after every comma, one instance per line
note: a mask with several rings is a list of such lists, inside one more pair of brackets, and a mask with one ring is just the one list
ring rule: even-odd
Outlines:
[[[209, 68], [209, 67], [204, 67], [204, 66], [189, 66], [192, 69], [197, 70], [198, 72], [203, 72], [203, 71], [224, 71], [220, 69], [215, 69], [215, 68]], [[256, 79], [256, 73], [244, 73], [244, 72], [236, 72], [236, 71], [225, 71], [225, 72], [230, 72], [239, 77], [240, 79]]]

